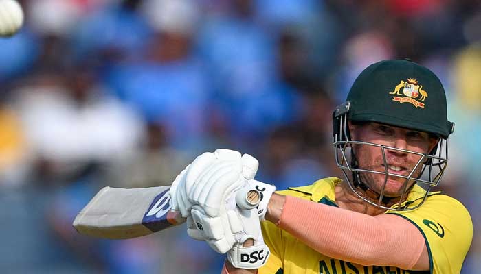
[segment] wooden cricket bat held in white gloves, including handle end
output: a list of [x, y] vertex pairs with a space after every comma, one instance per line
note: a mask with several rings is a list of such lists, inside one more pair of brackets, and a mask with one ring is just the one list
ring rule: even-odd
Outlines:
[[[186, 221], [172, 211], [170, 186], [151, 188], [102, 188], [74, 220], [80, 234], [98, 238], [128, 239], [159, 232]], [[260, 193], [242, 189], [236, 193], [237, 206], [255, 208]]]

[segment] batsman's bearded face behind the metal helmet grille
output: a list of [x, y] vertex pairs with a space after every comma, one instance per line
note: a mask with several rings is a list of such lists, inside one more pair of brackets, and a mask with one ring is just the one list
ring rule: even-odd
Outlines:
[[[429, 153], [436, 145], [437, 140], [430, 138], [425, 132], [418, 132], [411, 129], [383, 125], [379, 123], [363, 123], [361, 125], [349, 124], [350, 134], [353, 140], [372, 142], [377, 145], [394, 147], [414, 151], [417, 153]], [[380, 147], [372, 145], [353, 145], [353, 151], [359, 162], [359, 169], [385, 172], [383, 152]], [[384, 149], [385, 162], [387, 163], [388, 173], [395, 175], [410, 175], [421, 155], [397, 151], [394, 149]], [[423, 160], [423, 162], [425, 159]], [[421, 173], [423, 163], [418, 165], [412, 177], [416, 178]], [[381, 193], [385, 182], [385, 174], [359, 173], [362, 182], [367, 184], [374, 192]], [[388, 176], [385, 186], [384, 196], [399, 197], [403, 192], [405, 178]], [[406, 189], [414, 184], [414, 180], [408, 182]]]

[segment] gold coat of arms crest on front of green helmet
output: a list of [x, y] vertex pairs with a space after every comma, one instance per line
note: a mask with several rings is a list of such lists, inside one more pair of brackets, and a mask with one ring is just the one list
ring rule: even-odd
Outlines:
[[394, 91], [389, 94], [394, 95], [392, 101], [412, 103], [416, 108], [424, 108], [425, 103], [421, 102], [427, 98], [427, 92], [423, 90], [423, 85], [418, 85], [418, 81], [413, 78], [407, 78], [407, 81], [401, 80]]

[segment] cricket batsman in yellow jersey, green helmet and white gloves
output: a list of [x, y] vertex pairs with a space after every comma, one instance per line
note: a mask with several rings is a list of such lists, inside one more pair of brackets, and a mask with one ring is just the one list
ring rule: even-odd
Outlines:
[[[276, 192], [253, 179], [255, 158], [219, 149], [177, 177], [172, 207], [187, 217], [189, 236], [226, 253], [222, 273], [460, 273], [471, 217], [431, 191], [453, 131], [432, 71], [410, 60], [377, 62], [333, 113], [344, 180]], [[236, 206], [245, 188], [258, 190], [256, 208]]]

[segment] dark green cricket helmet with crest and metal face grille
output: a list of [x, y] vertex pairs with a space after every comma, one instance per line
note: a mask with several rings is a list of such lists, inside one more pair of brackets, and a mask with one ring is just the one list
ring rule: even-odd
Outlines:
[[[376, 122], [419, 132], [427, 132], [438, 138], [438, 144], [429, 153], [417, 153], [395, 147], [387, 147], [359, 140], [351, 140], [347, 121]], [[443, 85], [432, 71], [411, 60], [385, 60], [368, 66], [355, 80], [350, 88], [348, 98], [337, 106], [333, 113], [333, 145], [336, 148], [337, 166], [342, 169], [350, 188], [364, 201], [379, 208], [395, 210], [412, 210], [421, 206], [429, 190], [437, 186], [447, 166], [447, 139], [454, 130], [454, 123], [447, 120], [446, 96]], [[385, 149], [414, 153], [421, 158], [409, 175], [397, 175], [385, 171], [360, 169], [353, 151], [353, 145], [370, 145], [379, 147], [385, 159]], [[414, 171], [422, 166], [421, 174]], [[350, 171], [350, 174], [348, 174]], [[363, 195], [366, 184], [361, 181], [362, 173], [385, 175], [384, 187], [377, 193], [379, 199], [373, 201]], [[384, 197], [388, 176], [405, 179], [399, 203], [383, 206], [392, 197]], [[416, 177], [414, 177], [416, 176]], [[427, 189], [423, 201], [414, 208], [401, 206], [411, 188], [408, 182], [425, 186]], [[413, 184], [414, 186], [414, 184]], [[361, 190], [359, 190], [361, 188]]]

